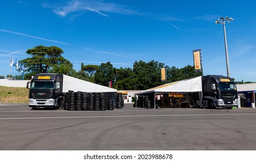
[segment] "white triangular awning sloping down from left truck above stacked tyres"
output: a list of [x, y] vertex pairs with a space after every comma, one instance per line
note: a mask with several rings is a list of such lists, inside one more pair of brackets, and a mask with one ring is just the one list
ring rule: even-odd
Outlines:
[[111, 89], [109, 87], [101, 86], [99, 84], [86, 82], [85, 80], [73, 78], [71, 76], [63, 75], [63, 92], [68, 92], [68, 90], [73, 91], [84, 91], [84, 92], [115, 92], [116, 89]]

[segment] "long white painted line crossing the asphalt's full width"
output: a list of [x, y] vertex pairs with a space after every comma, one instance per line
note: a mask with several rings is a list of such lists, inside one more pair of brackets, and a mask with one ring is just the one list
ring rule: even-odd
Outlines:
[[9, 119], [75, 119], [75, 118], [102, 118], [102, 117], [166, 117], [166, 116], [232, 116], [256, 115], [256, 113], [230, 113], [230, 114], [187, 114], [187, 115], [121, 115], [121, 116], [60, 116], [60, 117], [2, 117], [0, 120]]

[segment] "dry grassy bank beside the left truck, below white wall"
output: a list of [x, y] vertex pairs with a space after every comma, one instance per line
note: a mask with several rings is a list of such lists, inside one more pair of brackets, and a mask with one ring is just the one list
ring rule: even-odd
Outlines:
[[0, 86], [1, 103], [28, 103], [29, 89]]

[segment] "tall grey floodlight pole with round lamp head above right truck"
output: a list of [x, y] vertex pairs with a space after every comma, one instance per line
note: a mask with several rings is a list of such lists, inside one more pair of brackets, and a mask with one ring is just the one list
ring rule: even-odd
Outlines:
[[225, 21], [233, 21], [234, 19], [231, 17], [221, 17], [217, 21], [215, 21], [215, 24], [223, 24], [223, 31], [224, 31], [224, 41], [225, 41], [225, 52], [226, 52], [226, 72], [228, 77], [230, 77], [230, 70], [229, 70], [229, 53], [228, 53], [228, 43], [226, 41], [226, 26]]

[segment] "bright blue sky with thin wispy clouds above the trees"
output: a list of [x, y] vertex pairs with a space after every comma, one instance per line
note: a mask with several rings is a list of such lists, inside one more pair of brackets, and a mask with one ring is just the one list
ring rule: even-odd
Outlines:
[[256, 1], [1, 1], [0, 75], [10, 57], [27, 49], [57, 46], [79, 71], [81, 62], [116, 68], [155, 60], [169, 67], [193, 65], [202, 49], [204, 75], [227, 75], [223, 25], [226, 23], [230, 76], [256, 82]]

